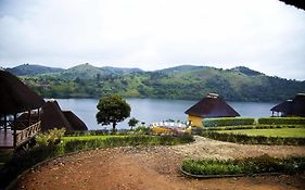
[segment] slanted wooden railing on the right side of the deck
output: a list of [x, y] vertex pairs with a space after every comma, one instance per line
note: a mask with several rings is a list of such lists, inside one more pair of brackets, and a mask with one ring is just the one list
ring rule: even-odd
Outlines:
[[28, 139], [34, 137], [39, 131], [40, 131], [40, 122], [33, 124], [31, 126], [29, 126], [23, 130], [17, 131], [16, 137], [15, 137], [16, 138], [15, 145], [18, 145], [18, 144], [27, 141]]

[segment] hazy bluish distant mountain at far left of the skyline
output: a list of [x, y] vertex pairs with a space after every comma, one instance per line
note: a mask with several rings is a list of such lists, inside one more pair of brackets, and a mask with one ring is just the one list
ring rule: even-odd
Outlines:
[[23, 64], [12, 68], [7, 68], [7, 71], [17, 76], [35, 76], [39, 74], [61, 73], [64, 69], [42, 65]]

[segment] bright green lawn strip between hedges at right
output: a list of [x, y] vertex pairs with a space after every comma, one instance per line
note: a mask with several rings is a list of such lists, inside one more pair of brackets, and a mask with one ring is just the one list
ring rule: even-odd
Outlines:
[[240, 129], [240, 130], [219, 130], [217, 132], [241, 134], [247, 136], [305, 138], [305, 128]]

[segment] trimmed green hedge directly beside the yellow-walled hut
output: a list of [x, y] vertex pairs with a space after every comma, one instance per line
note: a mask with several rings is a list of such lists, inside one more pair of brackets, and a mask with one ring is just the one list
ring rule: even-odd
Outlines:
[[218, 127], [218, 126], [240, 126], [240, 125], [253, 125], [254, 118], [247, 117], [221, 117], [221, 118], [204, 118], [204, 127]]

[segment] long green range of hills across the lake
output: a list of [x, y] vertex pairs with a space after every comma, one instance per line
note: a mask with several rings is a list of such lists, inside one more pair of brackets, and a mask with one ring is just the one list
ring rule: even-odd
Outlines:
[[154, 72], [81, 64], [61, 73], [22, 78], [46, 98], [201, 99], [208, 92], [228, 101], [283, 101], [305, 92], [305, 81], [270, 77], [239, 66], [221, 69], [182, 65]]

